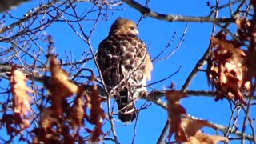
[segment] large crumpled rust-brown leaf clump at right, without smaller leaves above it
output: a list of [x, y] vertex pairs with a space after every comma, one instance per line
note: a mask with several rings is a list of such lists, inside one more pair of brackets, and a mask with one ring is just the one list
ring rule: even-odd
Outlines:
[[[244, 82], [246, 74], [246, 53], [238, 42], [226, 40], [223, 34], [210, 38], [212, 53], [208, 60], [208, 81], [216, 88], [216, 101], [222, 98], [239, 99], [246, 104], [242, 91], [249, 90]], [[245, 85], [246, 84], [246, 85]]]

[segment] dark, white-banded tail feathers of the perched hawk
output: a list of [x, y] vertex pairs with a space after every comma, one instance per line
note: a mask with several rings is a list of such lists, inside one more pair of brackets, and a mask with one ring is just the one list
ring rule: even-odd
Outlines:
[[130, 103], [128, 90], [120, 91], [120, 96], [116, 98], [118, 103], [118, 117], [119, 119], [128, 124], [137, 117], [134, 103]]

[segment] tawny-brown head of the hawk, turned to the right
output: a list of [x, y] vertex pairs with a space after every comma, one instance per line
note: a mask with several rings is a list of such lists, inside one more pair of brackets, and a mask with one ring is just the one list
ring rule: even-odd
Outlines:
[[110, 28], [110, 34], [116, 33], [118, 31], [134, 35], [138, 34], [136, 24], [133, 21], [130, 21], [129, 19], [125, 18], [117, 18]]

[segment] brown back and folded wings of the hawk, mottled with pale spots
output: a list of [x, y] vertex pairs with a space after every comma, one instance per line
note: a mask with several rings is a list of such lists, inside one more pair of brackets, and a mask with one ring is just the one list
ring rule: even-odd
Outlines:
[[136, 35], [111, 34], [98, 50], [98, 65], [102, 67], [105, 84], [110, 87], [121, 84], [129, 90], [145, 86], [147, 57], [146, 46]]

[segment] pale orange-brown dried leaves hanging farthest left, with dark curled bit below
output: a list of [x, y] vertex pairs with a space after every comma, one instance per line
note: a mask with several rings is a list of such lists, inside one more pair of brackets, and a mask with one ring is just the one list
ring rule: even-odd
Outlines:
[[12, 135], [18, 133], [16, 126], [19, 126], [20, 130], [30, 127], [31, 98], [28, 92], [33, 93], [33, 90], [26, 86], [26, 76], [16, 70], [16, 66], [12, 67], [9, 77], [14, 114], [3, 114], [1, 122], [6, 125], [7, 134]]

